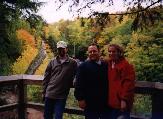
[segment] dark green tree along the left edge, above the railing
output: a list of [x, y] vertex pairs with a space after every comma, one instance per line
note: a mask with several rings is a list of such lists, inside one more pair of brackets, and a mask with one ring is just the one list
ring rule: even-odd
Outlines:
[[[21, 54], [21, 42], [16, 39], [16, 30], [20, 28], [20, 18], [30, 18], [42, 3], [30, 0], [0, 1], [0, 75], [10, 72], [11, 64]], [[19, 26], [20, 25], [20, 26]]]

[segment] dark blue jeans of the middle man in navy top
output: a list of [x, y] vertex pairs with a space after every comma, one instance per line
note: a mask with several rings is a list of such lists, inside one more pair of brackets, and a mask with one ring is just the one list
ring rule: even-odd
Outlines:
[[84, 111], [85, 119], [109, 119], [109, 111]]

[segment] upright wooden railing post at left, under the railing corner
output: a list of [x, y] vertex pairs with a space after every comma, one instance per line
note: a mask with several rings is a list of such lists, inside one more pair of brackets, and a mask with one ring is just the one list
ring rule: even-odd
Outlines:
[[23, 79], [18, 82], [18, 119], [27, 118], [27, 85]]

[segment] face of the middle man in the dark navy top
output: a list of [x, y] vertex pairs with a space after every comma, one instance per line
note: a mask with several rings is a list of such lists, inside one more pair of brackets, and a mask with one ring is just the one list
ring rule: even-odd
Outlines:
[[99, 60], [100, 53], [99, 53], [97, 46], [92, 45], [88, 47], [88, 57], [90, 60], [93, 60], [93, 61]]

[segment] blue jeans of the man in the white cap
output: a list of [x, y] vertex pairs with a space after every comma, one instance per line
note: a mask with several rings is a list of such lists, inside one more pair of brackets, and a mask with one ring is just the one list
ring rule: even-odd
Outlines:
[[66, 99], [50, 99], [46, 97], [44, 119], [62, 119], [65, 105]]

